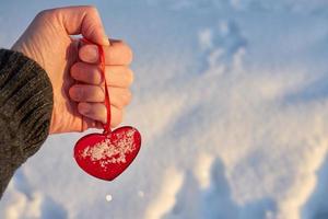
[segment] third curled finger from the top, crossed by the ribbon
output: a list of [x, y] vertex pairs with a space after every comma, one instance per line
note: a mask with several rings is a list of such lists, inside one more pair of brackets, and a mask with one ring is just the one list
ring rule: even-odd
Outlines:
[[[122, 108], [131, 102], [132, 94], [128, 89], [119, 89], [109, 87], [110, 104]], [[70, 97], [75, 102], [103, 103], [105, 101], [105, 92], [98, 85], [74, 84], [69, 90]]]

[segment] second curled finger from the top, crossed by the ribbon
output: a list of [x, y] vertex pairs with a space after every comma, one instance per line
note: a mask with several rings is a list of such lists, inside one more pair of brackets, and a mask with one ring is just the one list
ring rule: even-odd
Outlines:
[[[133, 82], [133, 72], [126, 66], [106, 66], [105, 76], [107, 85], [128, 88]], [[98, 66], [85, 62], [75, 62], [71, 68], [71, 77], [78, 81], [101, 84], [103, 76]]]

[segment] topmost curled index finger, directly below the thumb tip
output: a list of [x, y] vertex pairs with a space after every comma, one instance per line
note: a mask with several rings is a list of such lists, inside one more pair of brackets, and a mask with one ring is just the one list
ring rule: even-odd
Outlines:
[[[104, 47], [106, 65], [128, 66], [132, 61], [132, 50], [122, 41], [110, 41], [110, 46]], [[98, 64], [99, 54], [96, 45], [85, 44], [79, 50], [79, 58], [89, 64]]]

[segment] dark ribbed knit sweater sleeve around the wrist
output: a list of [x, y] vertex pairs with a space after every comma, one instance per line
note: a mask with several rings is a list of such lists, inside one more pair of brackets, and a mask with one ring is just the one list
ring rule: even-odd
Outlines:
[[0, 198], [15, 170], [46, 140], [52, 102], [45, 70], [21, 53], [0, 49]]

